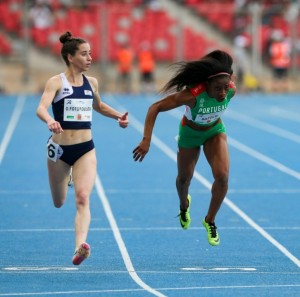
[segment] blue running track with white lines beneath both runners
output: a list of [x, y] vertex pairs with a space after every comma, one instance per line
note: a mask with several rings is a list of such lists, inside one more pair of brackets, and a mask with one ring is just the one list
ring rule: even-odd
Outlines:
[[190, 188], [190, 229], [176, 217], [182, 108], [159, 115], [149, 154], [135, 163], [132, 150], [158, 97], [102, 97], [129, 112], [130, 126], [94, 113], [92, 254], [80, 266], [71, 262], [73, 189], [61, 209], [51, 201], [40, 98], [0, 97], [0, 296], [299, 297], [299, 95], [240, 94], [225, 113], [231, 171], [218, 247], [201, 225], [212, 183], [203, 154]]

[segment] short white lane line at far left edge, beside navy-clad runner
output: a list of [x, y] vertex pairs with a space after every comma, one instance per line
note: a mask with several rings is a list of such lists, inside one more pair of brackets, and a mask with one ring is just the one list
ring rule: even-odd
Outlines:
[[11, 136], [13, 135], [14, 130], [17, 126], [18, 121], [19, 121], [19, 118], [20, 118], [20, 115], [22, 113], [25, 101], [26, 101], [26, 96], [24, 96], [24, 95], [20, 95], [17, 99], [17, 103], [15, 105], [14, 111], [12, 113], [12, 116], [10, 118], [8, 126], [5, 130], [4, 137], [3, 137], [2, 141], [1, 141], [1, 144], [0, 144], [0, 165], [2, 163], [2, 159], [3, 159], [4, 154], [6, 152], [6, 148], [9, 144]]

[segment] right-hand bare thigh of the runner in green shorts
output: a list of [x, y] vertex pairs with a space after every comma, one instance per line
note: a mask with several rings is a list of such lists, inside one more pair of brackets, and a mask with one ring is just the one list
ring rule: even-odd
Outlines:
[[214, 173], [229, 170], [229, 153], [225, 133], [217, 134], [207, 140], [203, 146], [203, 151]]

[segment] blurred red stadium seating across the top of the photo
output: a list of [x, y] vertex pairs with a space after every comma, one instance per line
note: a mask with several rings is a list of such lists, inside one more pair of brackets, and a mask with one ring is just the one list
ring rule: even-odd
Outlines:
[[[28, 0], [27, 3], [33, 1]], [[233, 41], [239, 35], [249, 38], [247, 46], [251, 49], [252, 19], [248, 6], [254, 1], [244, 0], [243, 6], [237, 7], [238, 1], [234, 0], [166, 0], [168, 7], [161, 5], [155, 8], [142, 0], [46, 1], [53, 14], [53, 22], [46, 29], [30, 26], [30, 43], [43, 54], [48, 53], [55, 58], [60, 57], [58, 38], [65, 31], [82, 36], [91, 43], [94, 62], [105, 60], [112, 64], [116, 62], [117, 49], [122, 42], [128, 42], [136, 52], [142, 42], [149, 42], [158, 63], [169, 63], [179, 58], [198, 59], [215, 48], [231, 52]], [[24, 3], [23, 0], [0, 0], [0, 54], [3, 57], [13, 56], [16, 41], [20, 43], [23, 40], [26, 26]], [[291, 3], [288, 0], [264, 0], [260, 3], [263, 3], [260, 48], [264, 55], [274, 30], [282, 30], [285, 36], [289, 36], [290, 23], [285, 13]], [[190, 16], [199, 22], [200, 27], [205, 24], [204, 29], [199, 30], [193, 26], [195, 23], [182, 22], [181, 13], [172, 14], [170, 4], [176, 5], [182, 13], [188, 12], [185, 17]], [[299, 35], [299, 19], [296, 31]], [[298, 65], [299, 53], [297, 51]]]

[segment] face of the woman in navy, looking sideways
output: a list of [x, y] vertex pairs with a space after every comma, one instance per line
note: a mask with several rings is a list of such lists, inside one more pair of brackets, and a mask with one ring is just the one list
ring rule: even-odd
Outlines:
[[92, 63], [91, 47], [89, 43], [82, 43], [74, 56], [69, 55], [70, 64], [79, 71], [86, 71]]

